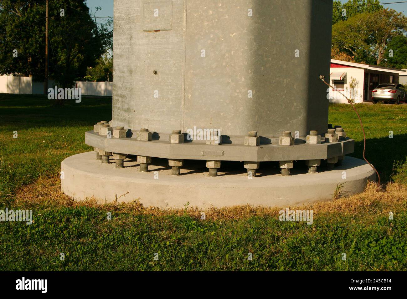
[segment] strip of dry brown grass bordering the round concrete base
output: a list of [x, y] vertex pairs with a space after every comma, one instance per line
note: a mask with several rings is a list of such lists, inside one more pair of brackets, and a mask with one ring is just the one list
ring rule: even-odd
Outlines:
[[[185, 209], [159, 209], [155, 207], [144, 207], [139, 200], [131, 203], [107, 203], [98, 204], [93, 198], [85, 201], [73, 201], [60, 190], [58, 177], [39, 179], [35, 183], [24, 186], [14, 196], [16, 205], [24, 207], [41, 205], [44, 208], [57, 206], [66, 207], [97, 207], [103, 210], [115, 210], [117, 212], [127, 212], [133, 214], [144, 214], [152, 216], [162, 215], [189, 215], [200, 218], [201, 212], [206, 213], [206, 218], [211, 220], [228, 220], [248, 218], [251, 216], [275, 217], [281, 209], [286, 207], [254, 207], [251, 205], [240, 205], [227, 208], [212, 207], [208, 210], [201, 210], [196, 207], [186, 207]], [[397, 183], [387, 183], [381, 189], [376, 183], [368, 183], [365, 191], [348, 197], [342, 197], [333, 201], [324, 201], [298, 207], [291, 206], [293, 210], [313, 210], [316, 214], [341, 213], [353, 215], [376, 216], [389, 211], [395, 211], [407, 207], [407, 186]]]

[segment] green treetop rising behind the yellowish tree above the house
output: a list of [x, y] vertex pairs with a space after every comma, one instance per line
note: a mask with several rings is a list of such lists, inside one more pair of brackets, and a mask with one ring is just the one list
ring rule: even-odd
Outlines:
[[332, 24], [346, 21], [349, 17], [359, 13], [374, 13], [382, 9], [383, 6], [380, 5], [379, 0], [349, 0], [345, 4], [342, 4], [341, 1], [334, 1]]

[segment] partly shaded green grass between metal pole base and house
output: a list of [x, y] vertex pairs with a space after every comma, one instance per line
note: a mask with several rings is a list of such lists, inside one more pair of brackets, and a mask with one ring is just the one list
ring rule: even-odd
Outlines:
[[[365, 157], [379, 171], [383, 182], [398, 172], [406, 176], [407, 165], [395, 169], [394, 163], [403, 164], [407, 158], [407, 105], [359, 104], [356, 109], [366, 133]], [[344, 127], [347, 135], [355, 140], [355, 151], [350, 156], [362, 159], [363, 132], [352, 107], [331, 104], [328, 121]], [[390, 131], [393, 138], [389, 138]]]

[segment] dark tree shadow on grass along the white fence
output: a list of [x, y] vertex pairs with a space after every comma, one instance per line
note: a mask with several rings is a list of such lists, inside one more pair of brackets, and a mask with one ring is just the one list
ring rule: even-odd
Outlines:
[[33, 127], [90, 126], [112, 119], [112, 97], [83, 96], [81, 103], [67, 100], [62, 107], [46, 95], [0, 94], [2, 125], [15, 130]]

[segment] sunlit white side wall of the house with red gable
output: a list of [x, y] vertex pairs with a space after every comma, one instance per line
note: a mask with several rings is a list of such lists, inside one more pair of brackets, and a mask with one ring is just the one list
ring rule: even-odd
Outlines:
[[[341, 93], [345, 94], [348, 98], [350, 98], [350, 86], [349, 86], [350, 80], [352, 78], [355, 78], [357, 81], [359, 81], [359, 84], [356, 89], [356, 94], [354, 96], [355, 98], [354, 102], [355, 103], [363, 102], [363, 83], [365, 79], [365, 70], [360, 68], [331, 68], [330, 72], [346, 73], [344, 91], [341, 91]], [[331, 79], [329, 79], [328, 83], [333, 86], [333, 81]], [[329, 88], [329, 94], [327, 96], [329, 98], [329, 103], [348, 103], [348, 100], [346, 100], [344, 96], [342, 96], [337, 91], [333, 91], [332, 88]]]

